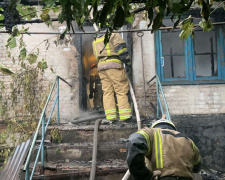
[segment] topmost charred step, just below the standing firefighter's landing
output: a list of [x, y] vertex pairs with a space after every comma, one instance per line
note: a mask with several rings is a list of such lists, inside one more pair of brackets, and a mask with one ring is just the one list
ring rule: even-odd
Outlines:
[[[78, 125], [72, 123], [51, 125], [48, 128], [47, 134], [50, 135], [52, 129], [59, 129], [62, 134], [61, 143], [80, 143], [93, 142], [94, 124], [80, 123]], [[137, 131], [135, 123], [127, 124], [121, 127], [120, 124], [110, 125], [101, 124], [98, 131], [98, 141], [118, 141], [120, 138], [128, 138], [131, 133]]]

